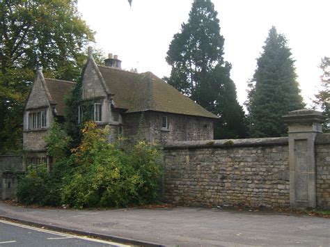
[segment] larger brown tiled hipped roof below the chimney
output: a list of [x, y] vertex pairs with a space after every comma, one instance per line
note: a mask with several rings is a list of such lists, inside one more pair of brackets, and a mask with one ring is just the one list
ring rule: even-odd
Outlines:
[[116, 107], [127, 109], [127, 113], [161, 111], [217, 118], [151, 72], [137, 74], [102, 65], [97, 67], [114, 95]]

